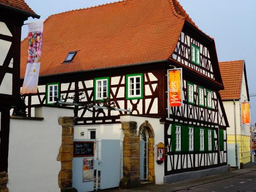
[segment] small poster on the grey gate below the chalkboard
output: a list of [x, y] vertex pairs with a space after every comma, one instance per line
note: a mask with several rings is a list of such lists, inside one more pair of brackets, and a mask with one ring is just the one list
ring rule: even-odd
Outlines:
[[82, 161], [83, 161], [82, 182], [93, 181], [94, 180], [93, 159], [83, 158]]

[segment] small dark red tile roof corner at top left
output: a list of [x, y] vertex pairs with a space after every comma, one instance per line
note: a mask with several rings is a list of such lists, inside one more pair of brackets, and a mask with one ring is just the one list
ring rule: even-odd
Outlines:
[[36, 13], [28, 6], [25, 0], [0, 0], [0, 4], [30, 13], [32, 15], [36, 15]]

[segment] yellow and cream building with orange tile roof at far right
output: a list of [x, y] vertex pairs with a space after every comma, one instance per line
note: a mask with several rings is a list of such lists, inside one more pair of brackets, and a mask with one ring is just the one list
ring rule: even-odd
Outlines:
[[227, 61], [219, 65], [224, 85], [220, 94], [230, 126], [227, 127], [228, 164], [240, 167], [251, 161], [250, 124], [242, 121], [242, 102], [249, 101], [245, 62]]

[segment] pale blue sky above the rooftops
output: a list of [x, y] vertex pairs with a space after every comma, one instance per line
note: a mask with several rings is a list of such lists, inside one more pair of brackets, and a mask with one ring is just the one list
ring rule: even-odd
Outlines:
[[[46, 19], [51, 14], [111, 3], [110, 0], [25, 0], [27, 4]], [[141, 0], [146, 1], [146, 0]], [[163, 0], [159, 0], [163, 1]], [[256, 93], [255, 64], [256, 25], [255, 0], [178, 0], [196, 25], [213, 37], [219, 61], [244, 59], [246, 63], [249, 93]], [[30, 17], [25, 23], [38, 19]], [[23, 27], [22, 39], [27, 36]], [[256, 123], [256, 97], [250, 97], [251, 124]]]

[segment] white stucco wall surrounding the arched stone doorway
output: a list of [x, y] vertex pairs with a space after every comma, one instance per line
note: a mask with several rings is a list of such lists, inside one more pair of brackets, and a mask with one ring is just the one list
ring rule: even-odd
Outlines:
[[[155, 134], [155, 176], [156, 176], [156, 184], [162, 184], [163, 183], [163, 177], [164, 177], [164, 163], [157, 164], [156, 162], [156, 144], [159, 142], [164, 143], [164, 124], [160, 124], [158, 118], [149, 118], [149, 117], [139, 117], [139, 116], [121, 116], [121, 121], [136, 121], [138, 125], [138, 129], [140, 125], [145, 122], [145, 120], [148, 121], [153, 127], [154, 134]], [[137, 130], [138, 130], [137, 129]]]

